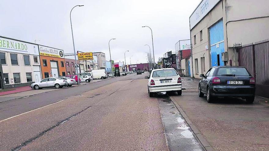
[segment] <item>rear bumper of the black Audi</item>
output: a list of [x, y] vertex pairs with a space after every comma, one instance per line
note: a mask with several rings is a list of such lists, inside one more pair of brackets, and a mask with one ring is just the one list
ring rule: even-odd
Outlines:
[[214, 96], [249, 97], [255, 96], [255, 86], [210, 86]]

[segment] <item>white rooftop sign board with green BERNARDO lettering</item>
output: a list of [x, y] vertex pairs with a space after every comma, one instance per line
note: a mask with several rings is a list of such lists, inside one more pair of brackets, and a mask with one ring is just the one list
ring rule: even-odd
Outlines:
[[38, 45], [0, 37], [0, 51], [38, 55]]

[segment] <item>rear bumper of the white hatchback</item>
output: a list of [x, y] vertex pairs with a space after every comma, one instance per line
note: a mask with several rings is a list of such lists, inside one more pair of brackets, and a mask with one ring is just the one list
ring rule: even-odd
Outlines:
[[182, 84], [149, 86], [150, 92], [173, 92], [182, 90]]

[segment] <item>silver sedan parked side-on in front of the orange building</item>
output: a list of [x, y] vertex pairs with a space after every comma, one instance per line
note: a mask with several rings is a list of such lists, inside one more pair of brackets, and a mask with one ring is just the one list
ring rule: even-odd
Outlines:
[[31, 84], [31, 88], [34, 88], [35, 90], [39, 88], [62, 88], [67, 85], [68, 83], [66, 80], [57, 77], [49, 77], [41, 80], [40, 82], [35, 82]]

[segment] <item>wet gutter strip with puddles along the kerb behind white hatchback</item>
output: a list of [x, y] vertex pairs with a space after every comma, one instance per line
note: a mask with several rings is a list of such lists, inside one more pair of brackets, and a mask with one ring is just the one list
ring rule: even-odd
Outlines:
[[168, 95], [157, 97], [170, 151], [205, 151]]

